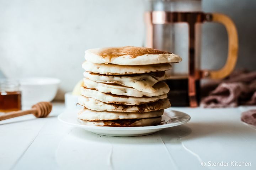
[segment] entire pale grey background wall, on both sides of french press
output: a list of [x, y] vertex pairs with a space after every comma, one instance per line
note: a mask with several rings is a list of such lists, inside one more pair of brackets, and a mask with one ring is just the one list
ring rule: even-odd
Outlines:
[[[0, 77], [61, 79], [57, 99], [82, 78], [84, 51], [144, 44], [144, 0], [0, 0]], [[256, 69], [256, 1], [203, 0], [203, 11], [230, 16], [239, 32], [236, 68]], [[227, 55], [223, 26], [203, 26], [202, 67]]]

